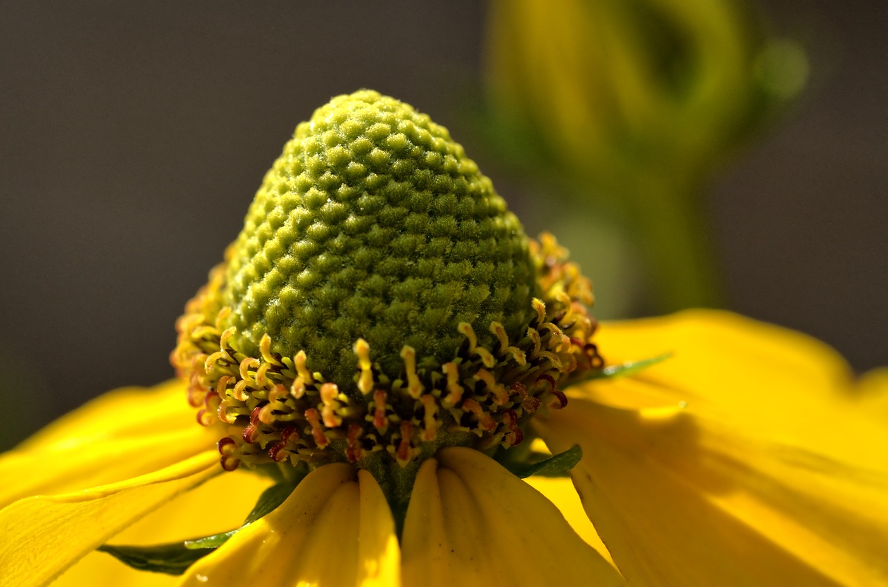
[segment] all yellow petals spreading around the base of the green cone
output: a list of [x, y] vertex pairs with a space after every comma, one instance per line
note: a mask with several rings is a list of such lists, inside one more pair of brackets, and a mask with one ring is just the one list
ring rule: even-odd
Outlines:
[[[399, 549], [367, 475], [322, 466], [185, 580], [618, 582], [531, 486], [629, 584], [888, 578], [888, 431], [884, 411], [860, 405], [884, 403], [884, 372], [855, 384], [820, 342], [725, 312], [605, 324], [597, 338], [616, 360], [674, 356], [568, 390], [569, 408], [537, 425], [552, 450], [583, 447], [571, 475], [582, 508], [566, 479], [528, 486], [477, 451], [448, 449], [417, 478]], [[219, 474], [215, 438], [182, 409], [184, 393], [179, 381], [111, 392], [0, 459], [4, 585], [44, 584], [84, 555], [58, 584], [174, 584], [89, 552], [121, 530], [117, 543], [154, 544], [240, 523], [270, 481]]]

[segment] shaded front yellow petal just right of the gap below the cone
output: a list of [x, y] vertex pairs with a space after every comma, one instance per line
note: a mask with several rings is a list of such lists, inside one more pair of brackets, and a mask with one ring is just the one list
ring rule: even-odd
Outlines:
[[545, 497], [477, 450], [420, 467], [403, 533], [408, 585], [619, 585]]

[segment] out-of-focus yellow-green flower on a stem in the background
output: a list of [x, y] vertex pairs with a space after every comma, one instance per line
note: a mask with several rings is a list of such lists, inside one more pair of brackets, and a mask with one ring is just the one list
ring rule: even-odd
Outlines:
[[736, 0], [499, 0], [489, 12], [497, 146], [579, 210], [630, 227], [661, 311], [718, 305], [702, 188], [806, 76], [800, 46]]

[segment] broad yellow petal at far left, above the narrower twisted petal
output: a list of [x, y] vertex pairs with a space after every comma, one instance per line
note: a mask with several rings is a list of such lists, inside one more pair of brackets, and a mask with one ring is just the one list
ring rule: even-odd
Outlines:
[[194, 421], [170, 382], [102, 395], [0, 455], [0, 507], [157, 471], [210, 449], [223, 435]]

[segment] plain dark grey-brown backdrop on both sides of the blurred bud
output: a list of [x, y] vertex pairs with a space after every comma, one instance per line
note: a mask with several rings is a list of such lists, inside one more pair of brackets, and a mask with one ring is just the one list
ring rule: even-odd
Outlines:
[[[810, 45], [812, 82], [711, 200], [731, 307], [827, 340], [858, 370], [888, 363], [886, 5], [767, 4]], [[104, 390], [170, 376], [183, 304], [292, 129], [330, 96], [401, 98], [514, 184], [461, 110], [484, 4], [0, 10], [3, 446]]]

